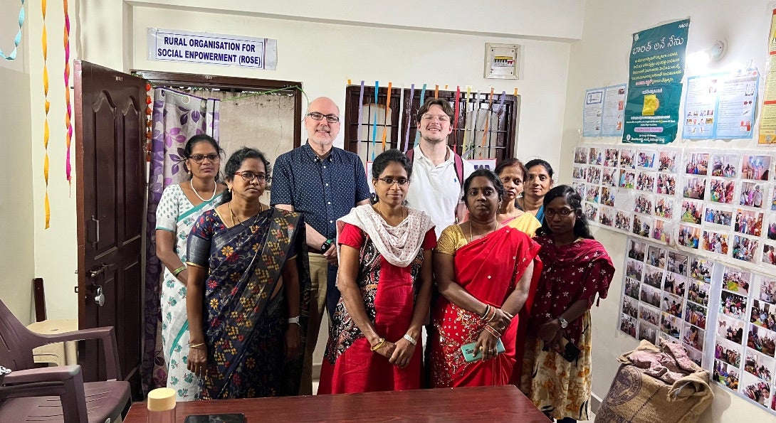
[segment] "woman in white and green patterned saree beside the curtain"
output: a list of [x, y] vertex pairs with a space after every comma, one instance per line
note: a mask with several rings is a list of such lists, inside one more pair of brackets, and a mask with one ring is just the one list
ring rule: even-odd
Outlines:
[[183, 166], [189, 179], [171, 184], [161, 194], [156, 209], [156, 256], [165, 266], [161, 284], [161, 346], [167, 365], [167, 386], [176, 401], [199, 395], [196, 375], [186, 369], [189, 330], [186, 320], [186, 240], [203, 211], [216, 207], [226, 187], [217, 182], [221, 148], [213, 137], [192, 136], [183, 149]]

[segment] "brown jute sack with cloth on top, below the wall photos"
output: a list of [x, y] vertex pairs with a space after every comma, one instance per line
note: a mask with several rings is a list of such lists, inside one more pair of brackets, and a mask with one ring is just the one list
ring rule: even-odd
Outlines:
[[596, 423], [693, 422], [714, 401], [708, 371], [676, 342], [664, 341], [661, 349], [643, 340], [618, 361]]

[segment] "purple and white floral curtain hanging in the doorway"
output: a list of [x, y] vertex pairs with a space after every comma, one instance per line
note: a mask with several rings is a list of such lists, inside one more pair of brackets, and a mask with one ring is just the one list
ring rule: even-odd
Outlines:
[[184, 181], [182, 163], [186, 141], [206, 133], [218, 139], [220, 100], [199, 98], [168, 88], [154, 89], [151, 115], [151, 169], [148, 177], [147, 250], [144, 307], [143, 363], [140, 369], [147, 393], [167, 383], [167, 366], [161, 351], [161, 273], [156, 256], [156, 208], [161, 192]]

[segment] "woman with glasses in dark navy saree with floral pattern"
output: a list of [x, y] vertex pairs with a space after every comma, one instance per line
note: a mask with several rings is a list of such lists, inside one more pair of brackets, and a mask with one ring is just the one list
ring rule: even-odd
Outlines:
[[189, 236], [188, 369], [203, 399], [296, 395], [310, 301], [303, 220], [259, 201], [263, 153], [237, 150], [224, 173], [222, 204]]

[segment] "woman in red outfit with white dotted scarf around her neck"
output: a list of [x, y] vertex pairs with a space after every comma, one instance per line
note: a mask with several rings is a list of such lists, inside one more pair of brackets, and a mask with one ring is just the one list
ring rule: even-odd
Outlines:
[[421, 387], [421, 329], [431, 297], [434, 223], [407, 208], [412, 163], [387, 150], [372, 165], [374, 205], [337, 221], [340, 248], [329, 341], [318, 394]]

